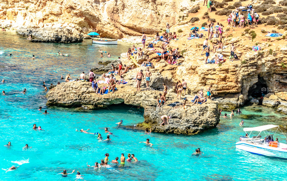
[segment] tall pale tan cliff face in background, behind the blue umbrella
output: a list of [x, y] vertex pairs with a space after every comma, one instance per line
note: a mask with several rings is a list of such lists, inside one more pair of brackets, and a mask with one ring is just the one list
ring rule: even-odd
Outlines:
[[0, 2], [0, 25], [62, 27], [74, 29], [75, 34], [96, 31], [103, 37], [122, 38], [142, 31], [153, 34], [165, 29], [166, 22], [174, 25], [192, 6], [190, 0], [5, 0]]

